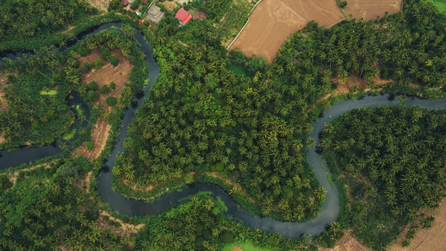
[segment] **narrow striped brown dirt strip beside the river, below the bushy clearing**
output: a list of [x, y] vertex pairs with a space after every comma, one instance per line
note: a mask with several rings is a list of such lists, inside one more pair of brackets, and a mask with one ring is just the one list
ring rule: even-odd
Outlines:
[[73, 151], [73, 156], [84, 156], [88, 160], [98, 158], [107, 143], [108, 134], [110, 132], [110, 124], [103, 119], [98, 119], [91, 131], [91, 139], [94, 147], [90, 151], [85, 147], [85, 142]]

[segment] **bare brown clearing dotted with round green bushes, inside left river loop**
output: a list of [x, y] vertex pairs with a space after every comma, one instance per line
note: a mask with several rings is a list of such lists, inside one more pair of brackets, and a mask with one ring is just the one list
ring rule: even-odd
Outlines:
[[100, 104], [103, 107], [108, 107], [105, 100], [107, 97], [112, 96], [118, 98], [121, 90], [125, 86], [125, 82], [128, 81], [128, 75], [130, 74], [130, 70], [132, 70], [132, 65], [127, 57], [121, 53], [120, 49], [115, 48], [112, 50], [112, 54], [118, 58], [119, 64], [117, 67], [114, 67], [103, 58], [100, 57], [100, 53], [98, 49], [94, 49], [85, 57], [79, 58], [81, 65], [84, 63], [93, 63], [96, 59], [100, 58], [103, 60], [103, 67], [99, 70], [91, 70], [90, 73], [83, 73], [81, 82], [83, 84], [88, 84], [91, 81], [95, 81], [98, 83], [98, 87], [103, 85], [110, 85], [110, 82], [115, 82], [116, 88], [115, 90], [111, 90], [107, 94], [100, 94], [99, 90], [97, 91], [99, 94], [99, 100], [94, 102], [94, 105]]

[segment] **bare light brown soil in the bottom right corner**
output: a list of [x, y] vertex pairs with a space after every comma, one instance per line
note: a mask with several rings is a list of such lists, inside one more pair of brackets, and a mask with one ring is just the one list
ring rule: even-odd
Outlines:
[[446, 250], [446, 201], [443, 201], [438, 210], [422, 210], [425, 215], [435, 216], [435, 222], [432, 228], [420, 228], [415, 238], [410, 242], [410, 247], [402, 247], [405, 232], [396, 242], [394, 242], [388, 251], [428, 251], [428, 250]]

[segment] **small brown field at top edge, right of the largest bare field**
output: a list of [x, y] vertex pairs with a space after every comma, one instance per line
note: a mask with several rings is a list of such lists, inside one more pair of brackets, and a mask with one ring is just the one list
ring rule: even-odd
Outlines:
[[385, 11], [388, 14], [395, 14], [401, 11], [403, 0], [347, 0], [347, 6], [344, 8], [347, 16], [354, 18], [364, 18], [365, 20], [375, 19], [378, 16], [383, 17]]

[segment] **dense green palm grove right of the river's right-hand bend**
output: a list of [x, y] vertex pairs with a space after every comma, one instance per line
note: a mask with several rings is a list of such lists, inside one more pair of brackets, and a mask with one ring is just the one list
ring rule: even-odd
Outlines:
[[374, 250], [395, 240], [420, 207], [442, 201], [445, 125], [445, 110], [376, 107], [343, 114], [324, 130], [321, 147], [336, 154], [328, 163], [351, 177], [353, 230]]

